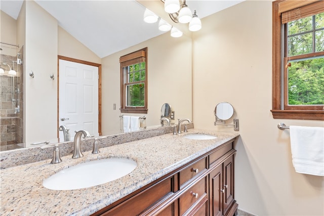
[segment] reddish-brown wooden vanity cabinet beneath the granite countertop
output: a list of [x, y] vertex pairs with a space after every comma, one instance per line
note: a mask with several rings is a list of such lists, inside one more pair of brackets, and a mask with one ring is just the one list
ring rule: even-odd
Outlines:
[[236, 215], [234, 139], [93, 215]]

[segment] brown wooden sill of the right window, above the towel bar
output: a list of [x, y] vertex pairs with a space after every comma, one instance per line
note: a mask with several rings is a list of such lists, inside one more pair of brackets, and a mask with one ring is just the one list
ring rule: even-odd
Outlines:
[[270, 110], [273, 118], [324, 120], [321, 110]]

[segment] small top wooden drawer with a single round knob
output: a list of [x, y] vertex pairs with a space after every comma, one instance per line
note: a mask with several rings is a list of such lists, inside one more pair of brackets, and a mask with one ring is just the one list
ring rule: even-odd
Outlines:
[[204, 157], [197, 162], [191, 164], [184, 170], [180, 171], [180, 186], [190, 180], [192, 177], [198, 175], [201, 171], [206, 170], [207, 168], [207, 158]]

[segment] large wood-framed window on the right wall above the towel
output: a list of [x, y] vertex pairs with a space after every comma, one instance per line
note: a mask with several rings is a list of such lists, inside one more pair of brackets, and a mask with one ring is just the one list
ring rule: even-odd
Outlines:
[[272, 3], [273, 118], [324, 120], [324, 2]]

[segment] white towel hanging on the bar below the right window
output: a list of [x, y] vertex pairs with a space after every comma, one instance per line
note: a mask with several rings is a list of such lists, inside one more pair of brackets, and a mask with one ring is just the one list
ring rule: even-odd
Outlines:
[[296, 172], [324, 176], [324, 127], [290, 126]]

